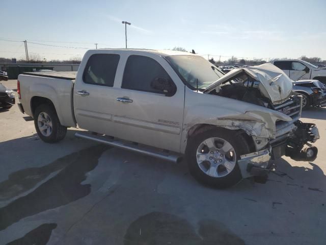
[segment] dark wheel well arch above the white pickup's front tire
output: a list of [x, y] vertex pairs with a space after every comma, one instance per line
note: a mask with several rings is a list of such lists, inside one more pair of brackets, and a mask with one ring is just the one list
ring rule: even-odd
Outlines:
[[[210, 125], [210, 124], [197, 124], [194, 125], [191, 129], [188, 130], [188, 139], [199, 134], [202, 133], [204, 131], [210, 130], [210, 129], [214, 129], [214, 128], [220, 128], [220, 129], [224, 129], [224, 130], [230, 130], [230, 129], [225, 129], [223, 127], [218, 127], [215, 125]], [[251, 152], [255, 152], [256, 151], [256, 146], [254, 143], [254, 140], [251, 136], [249, 136], [244, 130], [242, 129], [238, 129], [238, 130], [232, 130], [233, 132], [235, 132], [236, 135], [242, 135], [242, 137], [247, 141], [247, 143], [249, 144], [249, 148]]]

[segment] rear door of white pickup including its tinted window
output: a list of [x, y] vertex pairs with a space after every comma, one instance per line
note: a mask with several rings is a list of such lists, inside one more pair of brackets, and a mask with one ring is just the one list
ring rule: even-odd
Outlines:
[[112, 135], [115, 104], [114, 88], [118, 54], [93, 54], [84, 72], [77, 74], [73, 91], [74, 114], [79, 128]]

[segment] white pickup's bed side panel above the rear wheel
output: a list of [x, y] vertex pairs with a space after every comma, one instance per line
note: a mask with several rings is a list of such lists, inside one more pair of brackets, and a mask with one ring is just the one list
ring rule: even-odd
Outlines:
[[60, 123], [66, 127], [75, 127], [72, 110], [72, 87], [74, 81], [31, 75], [19, 75], [21, 100], [25, 113], [33, 117], [31, 108], [34, 96], [49, 99], [56, 108]]

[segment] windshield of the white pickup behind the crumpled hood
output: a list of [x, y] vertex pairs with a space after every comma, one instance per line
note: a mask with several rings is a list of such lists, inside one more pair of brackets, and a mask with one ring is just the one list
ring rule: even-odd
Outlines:
[[222, 71], [201, 56], [173, 55], [166, 57], [174, 70], [194, 90], [205, 89], [224, 76]]

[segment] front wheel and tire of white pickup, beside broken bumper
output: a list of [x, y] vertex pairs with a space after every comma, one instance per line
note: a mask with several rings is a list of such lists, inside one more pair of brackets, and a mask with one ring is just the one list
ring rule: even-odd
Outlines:
[[[237, 134], [237, 133], [238, 131], [235, 130], [213, 128], [208, 130], [201, 130], [201, 132], [189, 138], [189, 143], [186, 149], [186, 160], [188, 163], [190, 173], [197, 181], [199, 181], [204, 185], [214, 187], [214, 188], [227, 188], [237, 184], [242, 179], [240, 168], [238, 166], [238, 159], [240, 158], [241, 155], [250, 153], [250, 147], [248, 142], [244, 139], [244, 137], [241, 134]], [[206, 149], [207, 145], [205, 146], [205, 144], [203, 144], [203, 141], [212, 138], [214, 140], [217, 140], [217, 141], [214, 140], [212, 141], [215, 147], [221, 146], [219, 144], [221, 143], [220, 140], [222, 139], [224, 140], [224, 142], [229, 143], [232, 146], [233, 150], [229, 151], [226, 154], [222, 154], [225, 153], [224, 151], [222, 151], [223, 149], [222, 148], [219, 149], [219, 147], [216, 147], [216, 154], [215, 153], [212, 154], [213, 151], [210, 150], [213, 148], [210, 148], [208, 153], [210, 155], [208, 156], [209, 158], [212, 157], [213, 159], [209, 161], [213, 161], [213, 162], [209, 162], [208, 164], [208, 162], [204, 160], [201, 163], [198, 163], [198, 161], [203, 160], [201, 159], [201, 157], [198, 157], [198, 155], [207, 154], [205, 152], [207, 151], [208, 148]], [[224, 145], [227, 146], [227, 144]], [[199, 153], [198, 150], [200, 150], [200, 152], [204, 152], [204, 154], [198, 154]], [[231, 152], [232, 152], [232, 156], [230, 158]], [[222, 155], [224, 155], [224, 160]], [[231, 164], [228, 165], [230, 170], [227, 169], [224, 165], [224, 163], [226, 165], [228, 164], [226, 160], [228, 160], [229, 162], [233, 162], [232, 163], [233, 168]], [[215, 164], [214, 166], [218, 165], [216, 171], [214, 171], [215, 167], [212, 166], [213, 164]], [[210, 166], [209, 169], [208, 169], [208, 165]], [[220, 167], [220, 165], [223, 166]], [[211, 171], [211, 167], [213, 167], [213, 171]], [[210, 175], [209, 173], [213, 173], [213, 174]]]

